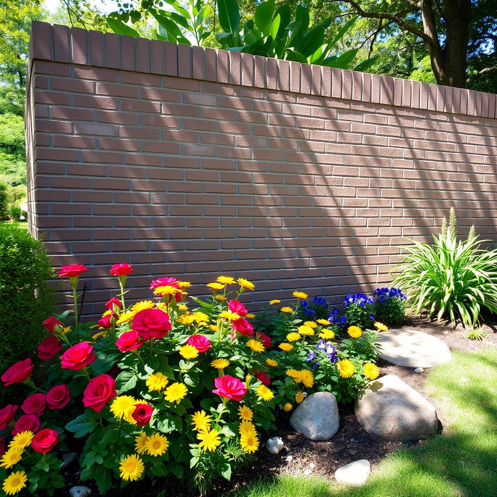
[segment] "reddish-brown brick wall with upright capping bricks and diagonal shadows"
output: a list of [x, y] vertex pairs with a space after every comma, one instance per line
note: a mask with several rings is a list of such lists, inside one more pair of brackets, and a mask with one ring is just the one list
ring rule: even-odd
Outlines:
[[[128, 262], [247, 299], [390, 280], [451, 206], [496, 235], [496, 95], [33, 23], [30, 230], [90, 267], [85, 314]], [[255, 306], [254, 306], [255, 307]]]

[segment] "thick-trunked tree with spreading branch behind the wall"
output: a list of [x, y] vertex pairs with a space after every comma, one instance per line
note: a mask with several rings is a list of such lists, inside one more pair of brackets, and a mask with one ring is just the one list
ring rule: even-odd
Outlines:
[[395, 24], [422, 40], [437, 83], [465, 88], [472, 59], [490, 59], [477, 71], [479, 74], [488, 76], [497, 69], [495, 0], [326, 1], [375, 19], [376, 34]]

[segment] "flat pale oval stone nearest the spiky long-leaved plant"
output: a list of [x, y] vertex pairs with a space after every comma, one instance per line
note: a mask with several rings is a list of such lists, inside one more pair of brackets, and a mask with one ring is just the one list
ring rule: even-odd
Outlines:
[[450, 349], [436, 336], [417, 330], [382, 331], [378, 355], [397, 366], [431, 368], [450, 360]]

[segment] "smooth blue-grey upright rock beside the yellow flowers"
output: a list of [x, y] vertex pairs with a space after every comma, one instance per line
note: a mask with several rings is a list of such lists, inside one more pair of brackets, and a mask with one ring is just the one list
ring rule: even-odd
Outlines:
[[340, 425], [335, 396], [330, 392], [309, 395], [293, 412], [290, 424], [311, 440], [329, 440]]

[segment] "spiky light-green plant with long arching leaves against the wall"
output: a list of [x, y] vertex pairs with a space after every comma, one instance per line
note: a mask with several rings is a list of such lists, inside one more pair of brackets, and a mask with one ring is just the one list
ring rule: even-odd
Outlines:
[[458, 319], [475, 326], [482, 309], [497, 313], [497, 251], [480, 248], [490, 240], [478, 240], [474, 228], [468, 240], [458, 241], [453, 209], [448, 229], [445, 221], [433, 244], [411, 241], [394, 269], [394, 284], [409, 295], [415, 314], [427, 309], [428, 316], [436, 313], [438, 321], [446, 318], [455, 327]]

